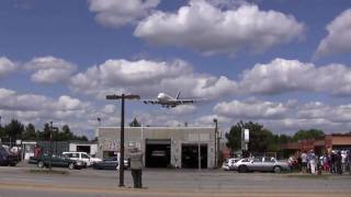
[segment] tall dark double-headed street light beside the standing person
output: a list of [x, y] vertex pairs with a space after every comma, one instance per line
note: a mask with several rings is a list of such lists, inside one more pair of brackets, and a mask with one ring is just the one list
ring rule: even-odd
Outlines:
[[124, 187], [124, 100], [140, 100], [136, 94], [106, 95], [106, 100], [122, 100], [121, 105], [121, 147], [120, 147], [120, 187]]

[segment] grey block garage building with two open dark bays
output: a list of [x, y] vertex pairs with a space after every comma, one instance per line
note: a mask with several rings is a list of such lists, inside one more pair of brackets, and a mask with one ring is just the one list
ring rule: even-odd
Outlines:
[[[98, 157], [117, 155], [120, 136], [120, 127], [99, 128]], [[125, 157], [140, 148], [146, 167], [215, 167], [215, 127], [127, 127], [124, 136]]]

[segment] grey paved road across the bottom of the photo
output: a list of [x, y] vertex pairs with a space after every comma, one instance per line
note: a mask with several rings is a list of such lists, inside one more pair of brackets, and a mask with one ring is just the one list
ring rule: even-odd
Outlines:
[[125, 187], [117, 186], [116, 171], [60, 171], [67, 173], [46, 174], [33, 172], [31, 167], [0, 167], [0, 197], [351, 196], [350, 175], [145, 170], [143, 181], [147, 188], [134, 189], [129, 171], [126, 171]]

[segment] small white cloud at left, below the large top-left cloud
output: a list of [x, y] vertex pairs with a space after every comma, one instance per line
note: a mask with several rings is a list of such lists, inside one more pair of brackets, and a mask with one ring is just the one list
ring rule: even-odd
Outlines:
[[33, 58], [24, 67], [34, 71], [31, 80], [37, 83], [67, 82], [77, 69], [76, 65], [52, 56]]

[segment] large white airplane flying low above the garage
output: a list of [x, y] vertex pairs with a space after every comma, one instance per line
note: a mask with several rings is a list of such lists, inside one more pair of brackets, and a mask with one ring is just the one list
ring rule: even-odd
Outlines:
[[192, 104], [192, 103], [205, 101], [205, 100], [181, 100], [179, 99], [179, 96], [180, 96], [180, 91], [178, 91], [176, 97], [172, 97], [163, 92], [160, 92], [157, 95], [156, 100], [144, 100], [143, 102], [145, 104], [158, 104], [158, 105], [161, 105], [162, 107], [170, 108], [170, 107], [177, 107], [178, 105]]

